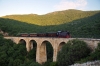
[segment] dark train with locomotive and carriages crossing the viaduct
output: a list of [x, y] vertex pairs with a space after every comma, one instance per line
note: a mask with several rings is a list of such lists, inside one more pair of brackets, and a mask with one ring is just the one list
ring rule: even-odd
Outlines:
[[48, 33], [20, 33], [19, 37], [58, 37], [58, 38], [71, 38], [67, 31], [48, 32]]

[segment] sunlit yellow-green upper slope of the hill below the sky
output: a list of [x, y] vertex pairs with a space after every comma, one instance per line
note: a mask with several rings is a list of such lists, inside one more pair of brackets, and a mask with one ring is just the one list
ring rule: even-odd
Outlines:
[[79, 10], [66, 10], [52, 12], [46, 15], [10, 15], [4, 16], [4, 18], [14, 19], [21, 22], [30, 24], [46, 26], [46, 25], [60, 25], [73, 20], [89, 17], [95, 15], [100, 11], [79, 11]]

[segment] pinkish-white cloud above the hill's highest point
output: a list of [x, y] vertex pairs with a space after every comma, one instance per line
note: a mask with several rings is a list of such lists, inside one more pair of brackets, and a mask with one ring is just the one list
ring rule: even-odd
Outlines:
[[55, 5], [56, 10], [79, 9], [83, 10], [87, 5], [87, 0], [61, 0]]

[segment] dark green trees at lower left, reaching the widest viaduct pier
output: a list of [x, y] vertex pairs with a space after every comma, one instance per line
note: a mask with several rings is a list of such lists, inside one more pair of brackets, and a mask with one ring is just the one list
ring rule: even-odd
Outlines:
[[29, 53], [26, 51], [25, 44], [15, 44], [0, 35], [0, 66], [41, 66], [35, 61], [34, 50], [31, 52], [34, 55]]

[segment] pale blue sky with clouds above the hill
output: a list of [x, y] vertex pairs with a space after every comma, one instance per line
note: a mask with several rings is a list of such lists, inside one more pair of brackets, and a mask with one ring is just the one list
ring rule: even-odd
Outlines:
[[0, 16], [42, 15], [68, 9], [100, 10], [100, 0], [0, 0]]

